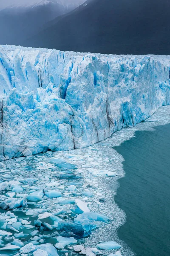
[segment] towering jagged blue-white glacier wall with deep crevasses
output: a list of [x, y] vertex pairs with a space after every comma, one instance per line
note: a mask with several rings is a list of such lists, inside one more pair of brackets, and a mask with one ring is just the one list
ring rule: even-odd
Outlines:
[[170, 57], [0, 46], [0, 160], [82, 148], [170, 104]]

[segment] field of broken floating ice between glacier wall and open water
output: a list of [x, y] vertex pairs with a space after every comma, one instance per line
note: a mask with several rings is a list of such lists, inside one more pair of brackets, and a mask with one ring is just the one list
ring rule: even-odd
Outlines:
[[[0, 208], [0, 255], [134, 256], [117, 236], [125, 214], [113, 198], [124, 171], [113, 146], [134, 131], [170, 123], [169, 113], [164, 106], [147, 122], [87, 148], [1, 161], [0, 202], [6, 209]], [[61, 197], [53, 197], [56, 192]]]

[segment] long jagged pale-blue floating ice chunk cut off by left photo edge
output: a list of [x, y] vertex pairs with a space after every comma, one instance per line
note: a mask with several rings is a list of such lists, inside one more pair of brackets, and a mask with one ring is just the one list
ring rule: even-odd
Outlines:
[[5, 201], [0, 203], [0, 208], [2, 208], [3, 210], [15, 209], [19, 207], [27, 207], [26, 196], [23, 197], [22, 199], [8, 198]]

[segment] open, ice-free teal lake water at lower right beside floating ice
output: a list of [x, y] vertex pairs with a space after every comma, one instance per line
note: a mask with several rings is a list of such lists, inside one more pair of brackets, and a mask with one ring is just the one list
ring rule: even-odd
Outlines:
[[127, 215], [118, 230], [137, 256], [170, 256], [170, 124], [114, 147], [125, 161], [116, 203]]

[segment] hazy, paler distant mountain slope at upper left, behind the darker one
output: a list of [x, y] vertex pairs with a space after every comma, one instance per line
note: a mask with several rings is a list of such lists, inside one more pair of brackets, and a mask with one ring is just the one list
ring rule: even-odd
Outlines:
[[[82, 0], [80, 0], [82, 3]], [[20, 45], [59, 15], [70, 12], [78, 3], [43, 0], [29, 5], [14, 4], [0, 11], [0, 44]]]

